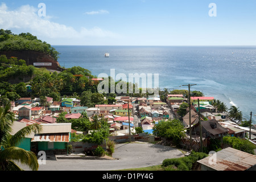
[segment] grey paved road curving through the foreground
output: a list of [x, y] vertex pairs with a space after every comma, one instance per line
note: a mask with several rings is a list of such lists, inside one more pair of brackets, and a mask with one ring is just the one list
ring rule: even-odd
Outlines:
[[109, 171], [140, 168], [162, 164], [167, 158], [184, 156], [179, 150], [150, 143], [116, 144], [113, 158], [116, 160], [57, 159], [47, 160], [39, 171]]

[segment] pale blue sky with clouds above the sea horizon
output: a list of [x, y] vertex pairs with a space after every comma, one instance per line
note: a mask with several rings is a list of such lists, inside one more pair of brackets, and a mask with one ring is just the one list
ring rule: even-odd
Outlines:
[[[209, 16], [210, 3], [217, 16]], [[255, 7], [255, 0], [0, 0], [0, 27], [52, 45], [247, 46], [256, 44]]]

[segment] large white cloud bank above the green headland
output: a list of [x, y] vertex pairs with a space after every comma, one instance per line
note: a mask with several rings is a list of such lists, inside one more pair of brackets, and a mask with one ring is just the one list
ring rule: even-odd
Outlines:
[[[115, 38], [117, 34], [102, 30], [100, 27], [75, 30], [71, 26], [55, 23], [50, 16], [39, 17], [37, 8], [24, 5], [16, 10], [9, 11], [5, 3], [0, 6], [0, 27], [8, 30], [20, 30], [30, 32], [32, 35], [46, 39], [87, 39], [87, 38]], [[104, 13], [105, 11], [99, 11]], [[106, 12], [105, 12], [106, 13]], [[64, 39], [64, 40], [65, 40]]]

